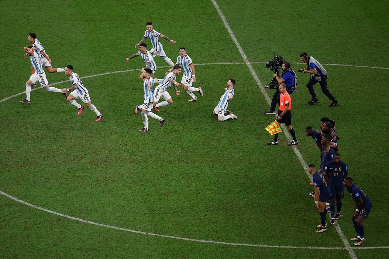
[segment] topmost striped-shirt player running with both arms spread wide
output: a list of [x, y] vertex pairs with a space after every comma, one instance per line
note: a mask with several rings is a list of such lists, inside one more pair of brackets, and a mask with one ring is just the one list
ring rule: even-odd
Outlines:
[[159, 37], [164, 38], [165, 40], [167, 40], [168, 42], [170, 42], [172, 44], [177, 43], [174, 40], [170, 40], [170, 38], [168, 38], [165, 35], [159, 33], [158, 31], [155, 31], [152, 28], [152, 22], [147, 22], [146, 23], [145, 35], [143, 36], [142, 40], [140, 40], [140, 42], [137, 45], [135, 45], [135, 49], [139, 45], [141, 45], [147, 38], [149, 38], [149, 40], [150, 40], [150, 42], [152, 44], [152, 49], [150, 51], [152, 56], [155, 57], [155, 56], [158, 55], [163, 60], [165, 60], [170, 66], [174, 66], [172, 60], [170, 58], [166, 57], [165, 50], [163, 50], [163, 46], [162, 46], [161, 42], [159, 42]]

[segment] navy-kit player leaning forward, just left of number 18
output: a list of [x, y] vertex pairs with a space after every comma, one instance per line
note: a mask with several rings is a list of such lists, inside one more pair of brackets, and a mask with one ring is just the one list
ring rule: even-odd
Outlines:
[[319, 229], [316, 230], [316, 233], [322, 233], [327, 231], [326, 223], [326, 203], [329, 202], [331, 193], [329, 188], [324, 181], [324, 177], [320, 172], [316, 171], [316, 165], [310, 164], [308, 167], [308, 172], [312, 174], [314, 186], [315, 186], [315, 195], [314, 201], [316, 203], [317, 210], [319, 210], [321, 224], [317, 226]]

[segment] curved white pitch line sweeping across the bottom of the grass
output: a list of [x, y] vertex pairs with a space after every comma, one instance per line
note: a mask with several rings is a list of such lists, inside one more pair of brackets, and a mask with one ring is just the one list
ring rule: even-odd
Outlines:
[[[179, 239], [179, 240], [202, 242], [202, 243], [214, 243], [214, 244], [221, 244], [221, 245], [242, 245], [242, 246], [247, 246], [247, 247], [270, 247], [270, 248], [293, 248], [293, 249], [346, 249], [345, 247], [294, 247], [294, 246], [283, 246], [283, 245], [259, 245], [259, 244], [231, 243], [231, 242], [200, 240], [200, 239], [194, 239], [194, 238], [186, 238], [186, 237], [179, 237], [179, 236], [169, 236], [169, 235], [148, 233], [148, 232], [137, 231], [137, 230], [132, 230], [132, 229], [128, 229], [128, 228], [119, 228], [119, 227], [110, 226], [110, 225], [106, 225], [106, 224], [96, 223], [96, 222], [88, 221], [85, 219], [79, 219], [77, 217], [68, 216], [68, 215], [65, 215], [65, 214], [62, 214], [59, 212], [55, 212], [53, 210], [48, 210], [48, 209], [44, 209], [42, 207], [38, 207], [38, 206], [33, 205], [31, 203], [20, 200], [12, 195], [9, 195], [8, 193], [5, 193], [4, 191], [1, 191], [1, 190], [0, 190], [0, 193], [2, 195], [12, 199], [12, 200], [15, 200], [15, 201], [23, 203], [27, 206], [33, 207], [34, 209], [43, 210], [43, 211], [49, 212], [49, 213], [54, 214], [54, 215], [58, 215], [61, 217], [67, 217], [68, 219], [74, 219], [77, 221], [81, 221], [84, 223], [93, 224], [93, 225], [97, 225], [97, 226], [102, 226], [105, 228], [113, 228], [113, 229], [117, 229], [117, 230], [123, 230], [123, 231], [128, 231], [128, 232], [138, 233], [138, 234], [143, 234], [143, 235], [148, 235], [148, 236], [159, 236], [159, 237], [167, 237], [167, 238], [173, 238], [173, 239]], [[353, 247], [352, 249], [386, 249], [386, 248], [389, 248], [389, 246], [387, 246], [387, 247]]]

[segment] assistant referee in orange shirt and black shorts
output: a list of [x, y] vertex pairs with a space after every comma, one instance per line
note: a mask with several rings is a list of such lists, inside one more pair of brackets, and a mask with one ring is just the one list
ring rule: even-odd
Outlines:
[[[298, 141], [296, 140], [296, 134], [292, 128], [292, 113], [291, 113], [291, 96], [286, 91], [286, 85], [284, 83], [280, 84], [280, 110], [278, 111], [275, 118], [278, 123], [285, 123], [289, 132], [293, 137], [293, 141], [288, 143], [288, 146], [297, 145]], [[278, 133], [274, 134], [274, 141], [268, 142], [268, 145], [278, 145]]]

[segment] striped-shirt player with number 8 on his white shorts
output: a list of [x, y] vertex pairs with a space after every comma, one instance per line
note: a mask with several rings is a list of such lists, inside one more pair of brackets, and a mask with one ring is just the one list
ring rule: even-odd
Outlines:
[[[196, 88], [192, 87], [193, 82], [196, 82], [196, 76], [195, 76], [195, 66], [192, 63], [191, 57], [189, 57], [186, 54], [186, 50], [184, 47], [180, 47], [180, 56], [177, 57], [177, 65], [180, 65], [182, 69], [184, 70], [184, 73], [182, 74], [182, 88], [186, 90], [186, 92], [192, 97], [188, 102], [193, 102], [197, 100], [197, 97], [193, 94], [192, 91], [199, 92], [200, 96], [203, 96], [203, 89], [201, 87]], [[170, 73], [173, 70], [173, 68], [170, 68], [166, 72], [166, 74]]]

